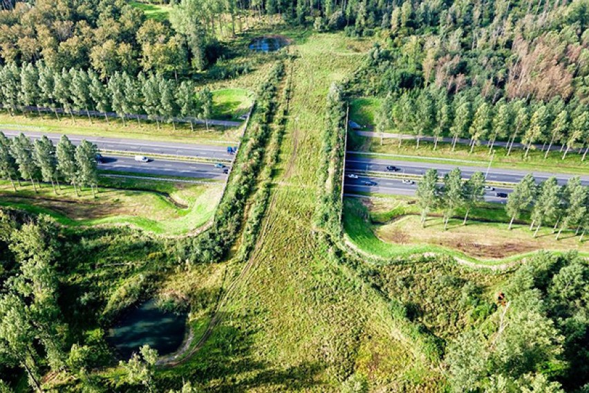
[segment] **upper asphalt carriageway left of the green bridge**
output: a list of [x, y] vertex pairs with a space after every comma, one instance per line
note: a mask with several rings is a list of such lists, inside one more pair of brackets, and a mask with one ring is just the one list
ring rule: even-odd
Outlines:
[[[21, 131], [1, 130], [8, 138], [17, 136]], [[32, 139], [41, 138], [46, 135], [53, 143], [57, 144], [62, 134], [47, 132], [30, 132], [24, 134]], [[227, 154], [227, 146], [218, 145], [196, 145], [191, 143], [161, 142], [158, 140], [140, 140], [127, 138], [106, 138], [102, 136], [84, 136], [68, 134], [68, 138], [74, 145], [79, 144], [82, 139], [97, 145], [100, 150], [115, 150], [118, 152], [139, 153], [144, 156], [149, 154], [165, 154], [168, 156], [200, 157], [216, 160], [232, 160], [233, 155]], [[235, 147], [235, 146], [232, 146]]]

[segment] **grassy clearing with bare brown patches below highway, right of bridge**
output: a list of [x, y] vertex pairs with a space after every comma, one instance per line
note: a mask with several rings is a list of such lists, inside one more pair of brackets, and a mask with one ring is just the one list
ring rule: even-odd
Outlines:
[[487, 204], [471, 210], [466, 226], [462, 226], [462, 214], [458, 211], [444, 231], [441, 212], [433, 212], [422, 228], [418, 208], [409, 199], [363, 203], [348, 198], [344, 205], [344, 228], [356, 248], [382, 258], [442, 253], [481, 264], [499, 264], [537, 250], [576, 249], [589, 255], [589, 241], [580, 242], [572, 230], [563, 231], [556, 241], [552, 227], [544, 227], [534, 239], [527, 223], [529, 214], [514, 223], [512, 230], [507, 229], [509, 217], [503, 206]]

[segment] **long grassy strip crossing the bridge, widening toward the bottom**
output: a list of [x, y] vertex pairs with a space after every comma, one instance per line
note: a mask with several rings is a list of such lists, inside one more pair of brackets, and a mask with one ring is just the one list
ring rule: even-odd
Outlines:
[[256, 248], [212, 336], [174, 372], [215, 390], [340, 391], [355, 373], [391, 387], [439, 386], [419, 338], [405, 336], [387, 304], [312, 233], [326, 93], [363, 57], [348, 43], [305, 35], [291, 49], [300, 55], [291, 111]]

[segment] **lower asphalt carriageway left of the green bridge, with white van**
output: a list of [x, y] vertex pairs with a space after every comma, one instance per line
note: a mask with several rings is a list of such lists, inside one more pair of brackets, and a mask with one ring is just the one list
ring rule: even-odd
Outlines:
[[103, 156], [104, 162], [98, 164], [99, 170], [111, 170], [116, 172], [133, 172], [150, 174], [154, 176], [182, 176], [195, 179], [221, 179], [225, 180], [227, 174], [223, 170], [229, 170], [230, 165], [223, 168], [215, 167], [214, 163], [193, 163], [189, 161], [169, 161], [155, 158], [149, 163], [140, 163], [133, 157]]

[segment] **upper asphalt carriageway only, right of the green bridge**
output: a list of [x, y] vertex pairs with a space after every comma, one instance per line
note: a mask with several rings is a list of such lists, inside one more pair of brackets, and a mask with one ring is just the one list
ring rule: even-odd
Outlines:
[[[400, 170], [391, 172], [386, 170], [389, 165], [399, 167]], [[381, 158], [364, 158], [355, 154], [347, 154], [346, 156], [346, 172], [348, 173], [362, 173], [365, 171], [371, 172], [384, 172], [384, 173], [395, 173], [395, 174], [412, 174], [421, 176], [429, 169], [437, 169], [440, 176], [444, 176], [457, 165], [449, 165], [442, 163], [420, 163], [420, 162], [409, 162], [409, 161], [394, 161]], [[487, 167], [471, 167], [466, 165], [458, 165], [462, 171], [462, 177], [468, 179], [474, 172], [487, 172]], [[508, 170], [503, 168], [491, 167], [487, 176], [487, 181], [495, 181], [501, 183], [518, 183], [528, 171], [525, 170]], [[559, 184], [564, 185], [568, 179], [574, 177], [572, 174], [557, 174], [549, 172], [533, 172], [536, 181], [545, 181], [550, 176], [556, 176]], [[589, 174], [580, 176], [581, 184], [589, 186]]]

